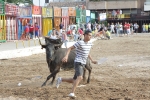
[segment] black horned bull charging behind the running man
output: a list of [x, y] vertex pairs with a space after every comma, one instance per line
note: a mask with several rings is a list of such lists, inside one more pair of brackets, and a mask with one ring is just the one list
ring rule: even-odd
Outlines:
[[[42, 86], [45, 86], [47, 81], [52, 77], [51, 84], [54, 83], [54, 80], [56, 78], [56, 74], [60, 71], [60, 68], [62, 69], [72, 69], [74, 68], [74, 59], [75, 59], [75, 50], [71, 50], [67, 63], [63, 63], [62, 59], [65, 57], [67, 49], [65, 48], [59, 48], [62, 45], [62, 42], [59, 42], [60, 40], [52, 40], [49, 38], [45, 38], [46, 45], [42, 45], [41, 41], [39, 39], [39, 42], [42, 46], [42, 48], [46, 49], [46, 60], [48, 64], [48, 68], [50, 70], [50, 75], [47, 77], [46, 81], [42, 84]], [[90, 82], [90, 76], [91, 76], [91, 63], [90, 60], [87, 59], [87, 63], [84, 68], [83, 73], [83, 81], [86, 80], [86, 69], [88, 70], [88, 79], [87, 83]]]

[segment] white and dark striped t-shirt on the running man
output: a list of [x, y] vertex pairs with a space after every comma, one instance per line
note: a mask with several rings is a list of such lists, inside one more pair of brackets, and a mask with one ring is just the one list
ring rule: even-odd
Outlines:
[[87, 57], [92, 47], [92, 42], [78, 41], [73, 46], [76, 48], [75, 62], [86, 64]]

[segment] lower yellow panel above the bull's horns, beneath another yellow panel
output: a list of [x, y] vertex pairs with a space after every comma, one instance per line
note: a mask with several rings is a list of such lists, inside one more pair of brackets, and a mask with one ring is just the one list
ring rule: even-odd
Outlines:
[[43, 36], [47, 36], [48, 32], [53, 28], [52, 18], [43, 18]]

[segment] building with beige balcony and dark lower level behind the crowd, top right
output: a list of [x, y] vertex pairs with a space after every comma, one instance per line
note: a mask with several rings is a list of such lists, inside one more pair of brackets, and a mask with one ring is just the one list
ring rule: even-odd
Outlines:
[[[94, 16], [93, 19], [91, 18], [92, 22], [136, 22], [140, 26], [139, 32], [142, 30], [143, 23], [150, 23], [150, 0], [51, 0], [49, 3], [49, 6], [58, 7], [77, 5], [85, 5], [86, 9], [91, 11], [91, 16]], [[114, 17], [113, 11], [121, 13]]]

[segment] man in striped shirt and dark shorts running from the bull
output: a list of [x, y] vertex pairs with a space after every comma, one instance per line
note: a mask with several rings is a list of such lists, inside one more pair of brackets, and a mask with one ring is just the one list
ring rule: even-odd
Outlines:
[[73, 88], [71, 93], [69, 94], [70, 97], [76, 97], [75, 96], [75, 90], [80, 81], [83, 79], [83, 70], [86, 64], [87, 58], [89, 58], [92, 63], [97, 64], [97, 61], [94, 61], [91, 56], [89, 55], [90, 49], [92, 47], [92, 43], [90, 42], [90, 39], [92, 37], [91, 31], [87, 30], [84, 33], [84, 40], [83, 41], [78, 41], [76, 42], [73, 46], [71, 46], [67, 53], [66, 56], [62, 59], [62, 62], [67, 62], [68, 60], [68, 55], [71, 50], [76, 49], [76, 57], [74, 61], [74, 66], [75, 66], [75, 74], [73, 78], [65, 79], [59, 77], [57, 79], [57, 88], [59, 87], [61, 82], [68, 82], [68, 83], [73, 83]]

